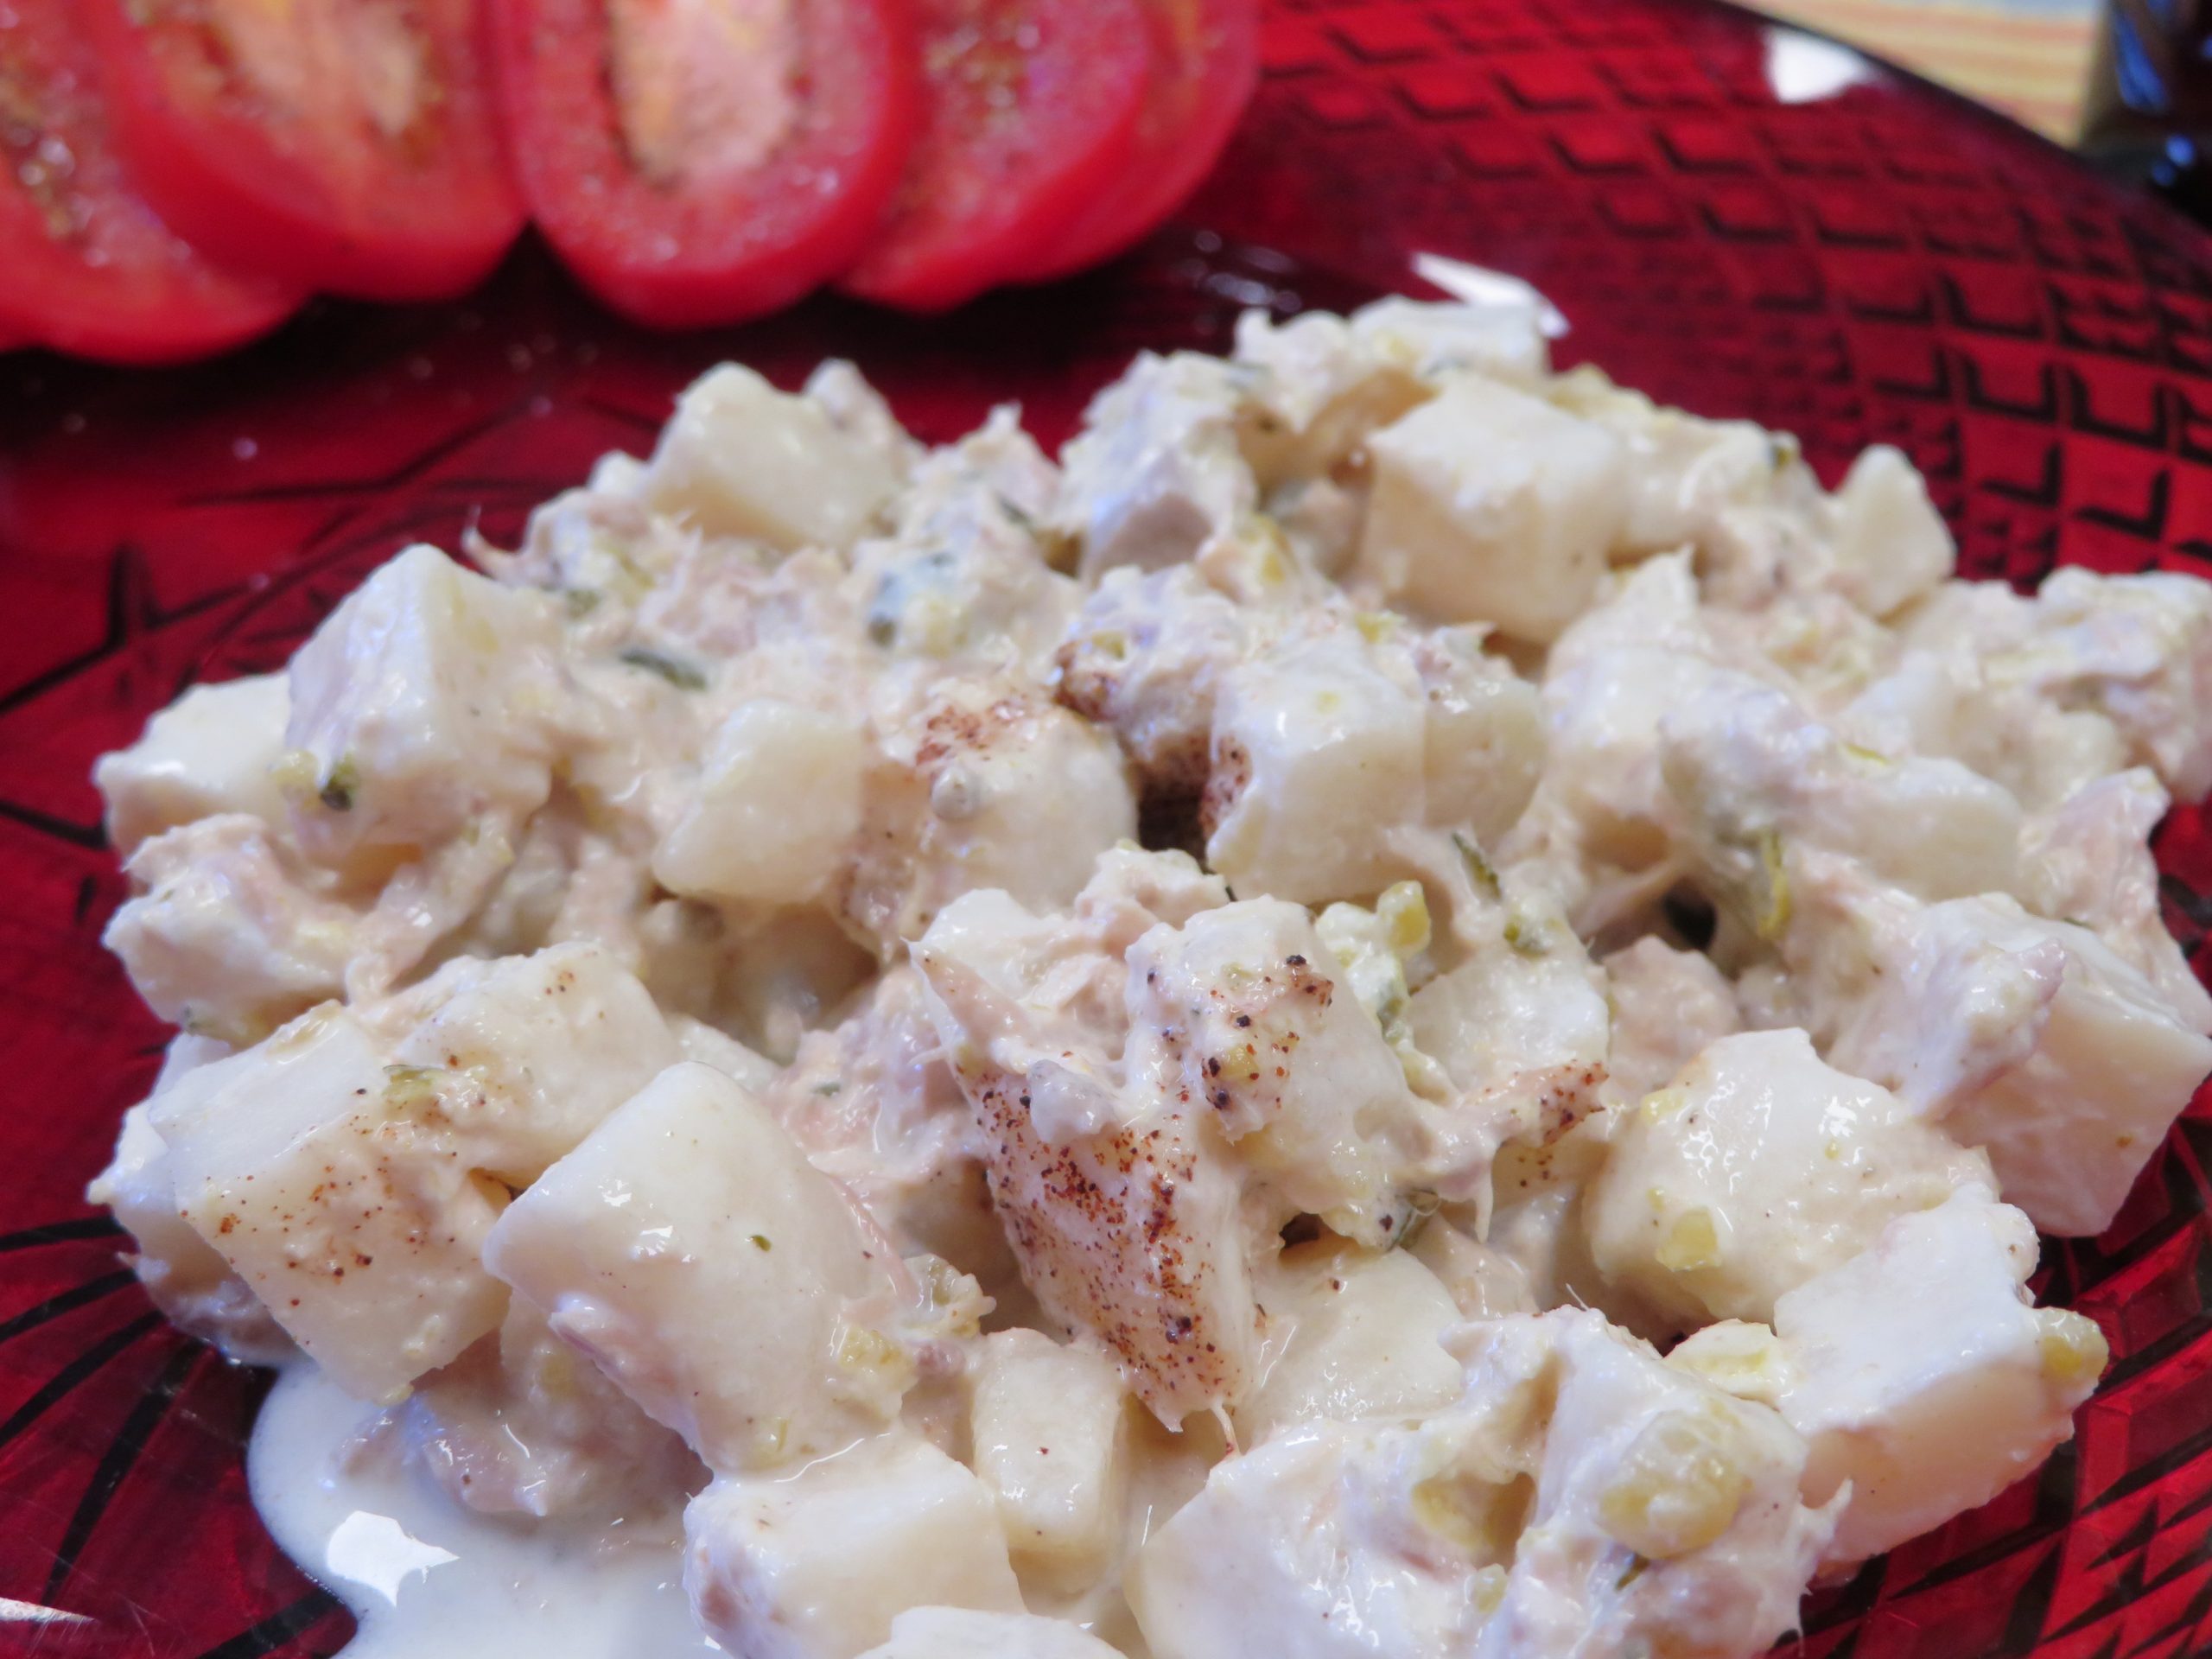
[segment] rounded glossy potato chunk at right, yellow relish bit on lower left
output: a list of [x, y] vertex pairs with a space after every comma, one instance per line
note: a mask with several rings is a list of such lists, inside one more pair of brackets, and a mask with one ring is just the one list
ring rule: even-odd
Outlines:
[[1606, 1279], [1694, 1329], [1772, 1316], [1778, 1294], [1986, 1168], [1823, 1064], [1803, 1031], [1747, 1031], [1621, 1113], [1584, 1214]]

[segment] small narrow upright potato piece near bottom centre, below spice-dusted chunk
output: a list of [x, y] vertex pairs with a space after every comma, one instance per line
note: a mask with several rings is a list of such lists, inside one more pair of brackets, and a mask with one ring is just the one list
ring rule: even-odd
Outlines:
[[998, 1498], [1006, 1546], [1075, 1590], [1121, 1537], [1128, 1394], [1110, 1360], [1042, 1332], [984, 1338], [969, 1407], [975, 1473]]

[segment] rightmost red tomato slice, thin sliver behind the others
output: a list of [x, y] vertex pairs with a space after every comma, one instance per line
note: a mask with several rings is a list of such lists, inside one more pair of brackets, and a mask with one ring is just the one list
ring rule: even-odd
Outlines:
[[1259, 86], [1259, 0], [1144, 0], [1157, 66], [1119, 184], [1062, 228], [1029, 270], [1048, 281], [1141, 241], [1221, 159]]

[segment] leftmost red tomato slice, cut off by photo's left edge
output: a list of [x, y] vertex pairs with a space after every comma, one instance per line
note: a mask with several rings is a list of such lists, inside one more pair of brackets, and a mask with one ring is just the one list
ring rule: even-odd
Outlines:
[[0, 349], [173, 363], [263, 334], [299, 290], [212, 265], [139, 199], [77, 7], [0, 2]]

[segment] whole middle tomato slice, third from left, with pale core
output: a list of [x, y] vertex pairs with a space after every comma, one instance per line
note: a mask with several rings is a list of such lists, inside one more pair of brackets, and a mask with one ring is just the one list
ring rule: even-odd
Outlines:
[[734, 323], [852, 265], [914, 137], [902, 0], [489, 0], [531, 217], [608, 305]]

